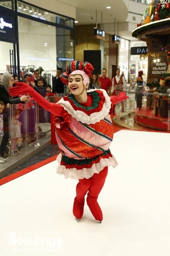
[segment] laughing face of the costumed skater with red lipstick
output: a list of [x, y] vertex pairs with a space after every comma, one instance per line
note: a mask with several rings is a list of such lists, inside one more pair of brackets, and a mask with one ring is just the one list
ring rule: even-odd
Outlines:
[[68, 80], [68, 88], [72, 94], [78, 96], [84, 91], [86, 93], [85, 89], [87, 88], [87, 85], [85, 86], [83, 84], [83, 78], [81, 75], [71, 75]]

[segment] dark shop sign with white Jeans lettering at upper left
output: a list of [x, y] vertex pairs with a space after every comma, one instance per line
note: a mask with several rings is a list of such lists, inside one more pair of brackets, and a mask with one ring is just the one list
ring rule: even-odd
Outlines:
[[0, 13], [0, 38], [17, 40], [15, 17]]

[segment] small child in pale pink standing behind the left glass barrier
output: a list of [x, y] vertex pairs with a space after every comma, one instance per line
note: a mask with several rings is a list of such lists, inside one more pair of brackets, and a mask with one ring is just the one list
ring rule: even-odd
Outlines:
[[16, 157], [18, 154], [20, 154], [19, 151], [17, 151], [17, 140], [21, 137], [21, 122], [18, 121], [18, 118], [20, 116], [20, 110], [14, 109], [13, 111], [13, 118], [12, 118], [12, 124], [11, 124], [11, 156]]

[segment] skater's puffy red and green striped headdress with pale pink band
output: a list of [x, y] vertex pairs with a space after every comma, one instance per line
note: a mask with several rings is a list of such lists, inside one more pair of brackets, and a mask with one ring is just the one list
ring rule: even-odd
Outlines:
[[83, 77], [83, 84], [89, 84], [89, 77], [92, 77], [91, 72], [94, 70], [94, 67], [87, 61], [84, 63], [81, 61], [72, 61], [67, 66], [67, 71], [62, 73], [60, 79], [63, 84], [68, 84], [68, 79], [71, 75], [79, 74]]

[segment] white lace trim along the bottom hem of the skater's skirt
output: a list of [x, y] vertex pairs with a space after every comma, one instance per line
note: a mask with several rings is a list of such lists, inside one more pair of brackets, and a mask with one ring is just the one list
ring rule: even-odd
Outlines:
[[[61, 162], [62, 154], [59, 154], [57, 161]], [[101, 172], [106, 166], [113, 166], [115, 168], [118, 165], [117, 160], [114, 156], [109, 158], [102, 158], [99, 163], [93, 164], [91, 168], [83, 168], [82, 170], [77, 170], [76, 168], [66, 169], [65, 166], [58, 165], [57, 173], [64, 175], [65, 178], [71, 178], [75, 180], [79, 179], [89, 179], [94, 173]]]

